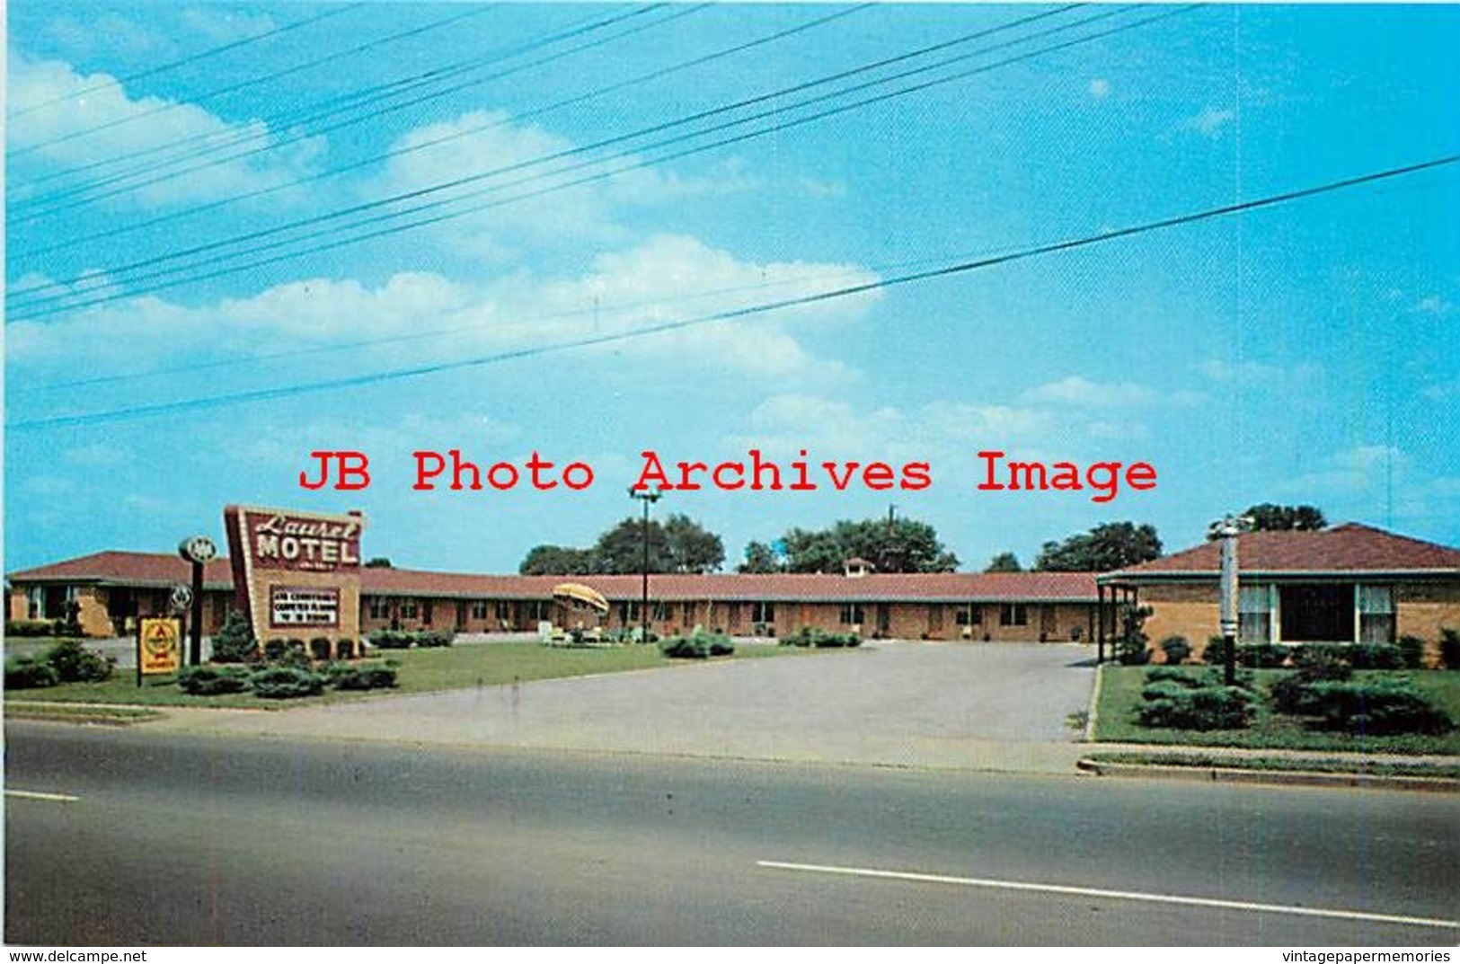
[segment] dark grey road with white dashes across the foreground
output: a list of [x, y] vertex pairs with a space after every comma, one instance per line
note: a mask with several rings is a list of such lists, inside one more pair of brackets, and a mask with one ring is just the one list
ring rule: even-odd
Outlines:
[[12, 944], [1460, 938], [1440, 923], [1460, 917], [1450, 795], [45, 723], [6, 738]]

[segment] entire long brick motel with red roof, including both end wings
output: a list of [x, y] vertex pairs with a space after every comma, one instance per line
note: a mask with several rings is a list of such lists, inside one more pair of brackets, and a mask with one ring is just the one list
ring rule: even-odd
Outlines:
[[[1218, 631], [1219, 545], [1115, 573], [879, 574], [850, 561], [840, 574], [653, 574], [650, 627], [661, 634], [695, 627], [737, 637], [785, 637], [803, 627], [866, 638], [968, 643], [1092, 643], [1114, 634], [1123, 603], [1150, 606], [1145, 624], [1152, 649], [1184, 635], [1200, 653]], [[1355, 643], [1425, 640], [1438, 651], [1440, 631], [1460, 628], [1460, 551], [1361, 524], [1321, 532], [1259, 532], [1238, 539], [1241, 641]], [[226, 558], [203, 575], [203, 631], [215, 632], [229, 609], [242, 609], [235, 568]], [[562, 625], [553, 587], [565, 580], [600, 593], [610, 605], [604, 630], [639, 625], [639, 575], [485, 575], [352, 567], [356, 613], [340, 613], [361, 635], [377, 630], [447, 630], [472, 634], [536, 634], [543, 621]], [[61, 619], [79, 606], [88, 635], [130, 635], [142, 616], [165, 615], [174, 586], [190, 565], [177, 555], [105, 551], [7, 577], [12, 621]], [[291, 574], [291, 583], [298, 581]], [[270, 638], [308, 637], [273, 628]]]

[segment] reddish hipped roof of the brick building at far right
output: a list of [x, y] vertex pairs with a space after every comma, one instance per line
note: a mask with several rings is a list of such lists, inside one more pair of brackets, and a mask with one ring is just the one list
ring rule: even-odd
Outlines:
[[[1242, 573], [1426, 573], [1460, 577], [1460, 549], [1396, 536], [1383, 529], [1345, 523], [1318, 532], [1250, 532], [1237, 539]], [[1222, 568], [1219, 542], [1207, 542], [1118, 573], [1101, 581], [1142, 577], [1216, 575]]]

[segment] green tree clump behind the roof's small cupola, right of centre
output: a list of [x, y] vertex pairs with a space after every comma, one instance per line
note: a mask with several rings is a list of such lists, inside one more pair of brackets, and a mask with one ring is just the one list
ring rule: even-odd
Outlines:
[[958, 556], [939, 542], [927, 523], [899, 519], [841, 520], [829, 529], [790, 529], [784, 536], [785, 571], [840, 573], [851, 558], [863, 558], [880, 573], [952, 573]]

